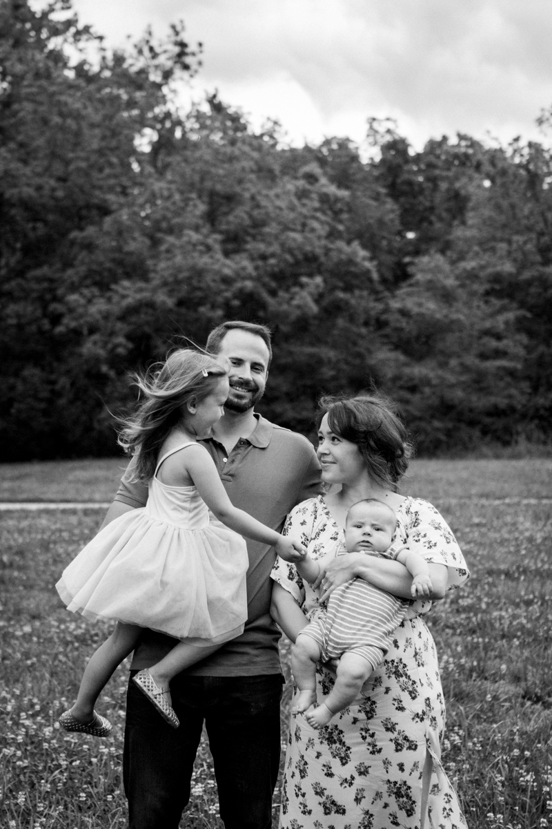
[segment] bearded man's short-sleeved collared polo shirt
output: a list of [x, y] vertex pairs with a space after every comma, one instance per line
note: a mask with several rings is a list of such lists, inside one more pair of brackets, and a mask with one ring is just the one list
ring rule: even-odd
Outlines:
[[[321, 491], [320, 468], [310, 442], [256, 414], [257, 427], [238, 440], [227, 454], [214, 438], [202, 444], [217, 466], [234, 507], [271, 529], [280, 531], [296, 504]], [[130, 472], [129, 472], [130, 469]], [[116, 501], [143, 507], [147, 487], [132, 482], [132, 462], [123, 475]], [[226, 642], [212, 656], [188, 669], [194, 676], [255, 676], [280, 671], [277, 642], [280, 633], [271, 619], [271, 570], [276, 553], [259, 541], [247, 541], [247, 623], [241, 636]], [[132, 668], [151, 667], [165, 656], [175, 640], [144, 631], [134, 652]]]

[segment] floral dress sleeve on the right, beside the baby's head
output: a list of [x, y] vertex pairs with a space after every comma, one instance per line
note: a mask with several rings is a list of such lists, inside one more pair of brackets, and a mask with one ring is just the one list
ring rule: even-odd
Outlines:
[[447, 566], [449, 590], [468, 579], [468, 566], [453, 531], [435, 507], [420, 498], [411, 498], [406, 506], [405, 523], [406, 538], [403, 541], [426, 561]]

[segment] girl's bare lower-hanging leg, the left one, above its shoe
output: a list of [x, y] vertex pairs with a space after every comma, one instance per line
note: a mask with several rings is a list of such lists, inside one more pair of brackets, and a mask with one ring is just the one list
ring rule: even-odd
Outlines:
[[122, 660], [136, 647], [140, 631], [134, 624], [118, 622], [111, 636], [98, 647], [84, 668], [77, 701], [70, 709], [75, 720], [89, 723], [94, 718], [94, 705]]

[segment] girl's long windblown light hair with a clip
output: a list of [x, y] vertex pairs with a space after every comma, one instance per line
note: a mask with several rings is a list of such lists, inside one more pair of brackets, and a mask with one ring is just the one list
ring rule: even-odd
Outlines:
[[161, 445], [182, 420], [186, 404], [209, 397], [220, 378], [227, 375], [223, 358], [190, 348], [179, 348], [164, 363], [133, 375], [144, 400], [134, 414], [120, 419], [118, 443], [136, 456], [137, 480], [147, 482], [153, 477]]

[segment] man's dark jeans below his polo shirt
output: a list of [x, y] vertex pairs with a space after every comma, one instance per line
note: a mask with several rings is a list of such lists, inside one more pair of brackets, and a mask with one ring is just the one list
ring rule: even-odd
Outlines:
[[[136, 671], [132, 671], [136, 673]], [[123, 774], [129, 829], [178, 829], [205, 720], [225, 829], [270, 829], [282, 677], [177, 676], [173, 729], [128, 683]]]

